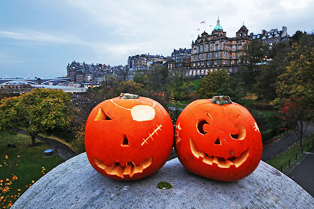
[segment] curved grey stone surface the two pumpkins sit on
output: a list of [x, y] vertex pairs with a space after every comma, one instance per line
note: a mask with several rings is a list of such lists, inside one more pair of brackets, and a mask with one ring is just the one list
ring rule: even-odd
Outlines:
[[[157, 188], [161, 181], [172, 188]], [[82, 153], [52, 169], [17, 200], [11, 209], [92, 208], [314, 208], [314, 198], [270, 165], [236, 182], [218, 182], [187, 171], [179, 160], [168, 161], [139, 181], [102, 176]]]

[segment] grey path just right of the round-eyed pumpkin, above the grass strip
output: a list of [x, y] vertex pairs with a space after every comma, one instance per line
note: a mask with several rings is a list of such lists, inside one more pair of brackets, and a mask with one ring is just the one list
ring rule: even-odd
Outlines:
[[[309, 135], [314, 133], [314, 125], [310, 124], [303, 135], [303, 139], [308, 137]], [[262, 161], [267, 162], [273, 157], [283, 153], [288, 149], [288, 147], [292, 146], [294, 143], [298, 142], [299, 138], [295, 134], [295, 132], [291, 132], [286, 137], [275, 141], [273, 144], [265, 147], [263, 149]]]

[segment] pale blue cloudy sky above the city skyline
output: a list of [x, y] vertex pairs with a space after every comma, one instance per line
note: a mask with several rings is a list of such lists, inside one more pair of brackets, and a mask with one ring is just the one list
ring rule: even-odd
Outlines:
[[313, 32], [313, 11], [313, 0], [0, 0], [0, 78], [58, 77], [73, 60], [114, 66], [135, 54], [168, 56], [210, 33], [218, 16], [228, 37], [243, 22], [254, 34]]

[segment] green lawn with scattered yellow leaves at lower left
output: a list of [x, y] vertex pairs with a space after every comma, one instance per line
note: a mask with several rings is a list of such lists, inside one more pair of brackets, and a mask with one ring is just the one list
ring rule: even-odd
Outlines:
[[[31, 143], [29, 136], [9, 135], [8, 132], [0, 131], [0, 182], [3, 181], [0, 188], [3, 188], [6, 179], [12, 180], [12, 174], [18, 178], [9, 185], [10, 191], [0, 193], [0, 208], [7, 206], [10, 200], [15, 202], [14, 196], [25, 192], [28, 186], [33, 184], [32, 182], [36, 182], [44, 175], [43, 172], [47, 173], [64, 162], [59, 156], [44, 158], [44, 151], [51, 147], [38, 139], [36, 142], [40, 145], [29, 147]], [[8, 143], [14, 143], [17, 147], [9, 148]]]

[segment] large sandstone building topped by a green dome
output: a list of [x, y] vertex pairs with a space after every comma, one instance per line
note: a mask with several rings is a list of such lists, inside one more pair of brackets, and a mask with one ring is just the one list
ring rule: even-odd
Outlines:
[[240, 56], [244, 53], [243, 46], [251, 39], [244, 25], [234, 38], [227, 37], [218, 19], [211, 34], [204, 31], [195, 42], [192, 41], [191, 67], [187, 69], [186, 75], [206, 75], [220, 68], [237, 72]]

